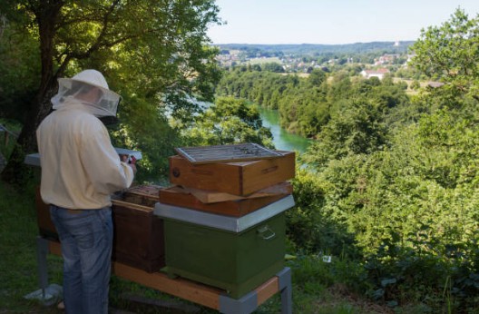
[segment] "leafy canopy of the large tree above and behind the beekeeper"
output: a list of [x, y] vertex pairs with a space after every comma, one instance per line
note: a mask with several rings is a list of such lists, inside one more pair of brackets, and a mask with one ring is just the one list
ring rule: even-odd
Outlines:
[[[148, 133], [143, 128], [157, 130], [153, 125], [164, 123], [167, 107], [178, 119], [191, 118], [197, 105], [189, 101], [190, 96], [212, 99], [214, 83], [220, 78], [214, 60], [217, 49], [207, 45], [206, 35], [211, 23], [220, 23], [218, 10], [210, 0], [3, 1], [5, 34], [15, 36], [3, 34], [0, 47], [19, 43], [19, 34], [39, 47], [34, 54], [32, 49], [16, 49], [20, 60], [35, 64], [29, 69], [15, 67], [13, 54], [0, 49], [5, 77], [36, 78], [28, 91], [35, 96], [25, 106], [19, 145], [3, 177], [12, 181], [24, 153], [35, 151], [34, 131], [51, 110], [56, 79], [84, 68], [101, 71], [112, 90], [122, 94], [118, 139], [130, 148], [143, 148], [141, 137]], [[0, 94], [0, 103], [5, 103], [0, 107], [2, 115], [10, 114], [6, 104], [16, 102], [15, 92], [24, 88], [20, 85], [10, 84], [15, 91]], [[145, 112], [157, 119], [142, 119]]]

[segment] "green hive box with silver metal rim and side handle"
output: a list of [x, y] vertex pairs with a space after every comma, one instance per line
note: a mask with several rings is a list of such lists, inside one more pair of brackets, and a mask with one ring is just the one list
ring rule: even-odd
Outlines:
[[292, 206], [289, 195], [235, 218], [157, 203], [167, 271], [225, 289], [239, 299], [283, 269], [284, 211]]

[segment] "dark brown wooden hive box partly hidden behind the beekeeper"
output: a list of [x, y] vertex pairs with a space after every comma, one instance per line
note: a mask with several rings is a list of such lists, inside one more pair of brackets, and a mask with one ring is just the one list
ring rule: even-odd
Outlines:
[[[129, 189], [112, 200], [112, 260], [148, 272], [164, 266], [163, 221], [153, 215], [160, 187], [140, 186]], [[49, 206], [36, 197], [37, 222], [40, 235], [58, 240]]]

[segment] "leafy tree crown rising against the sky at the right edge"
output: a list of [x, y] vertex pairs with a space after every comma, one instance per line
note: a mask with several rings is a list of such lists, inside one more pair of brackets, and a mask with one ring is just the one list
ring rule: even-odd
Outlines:
[[479, 17], [469, 19], [461, 9], [456, 9], [451, 19], [440, 26], [423, 30], [412, 49], [412, 65], [433, 81], [445, 83], [433, 89], [435, 106], [464, 106], [479, 101]]

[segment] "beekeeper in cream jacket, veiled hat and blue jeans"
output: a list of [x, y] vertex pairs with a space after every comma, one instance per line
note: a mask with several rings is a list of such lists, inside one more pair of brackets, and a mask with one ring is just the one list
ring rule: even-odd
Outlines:
[[103, 74], [85, 70], [58, 80], [50, 113], [36, 131], [41, 195], [50, 204], [64, 257], [67, 313], [107, 313], [114, 191], [132, 184], [134, 163], [122, 162], [99, 120], [115, 116], [120, 95]]

